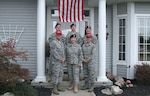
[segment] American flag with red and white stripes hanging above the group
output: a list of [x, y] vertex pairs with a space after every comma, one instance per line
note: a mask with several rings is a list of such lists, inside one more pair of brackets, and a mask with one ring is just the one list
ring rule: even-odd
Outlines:
[[58, 10], [60, 22], [84, 20], [84, 0], [58, 0]]

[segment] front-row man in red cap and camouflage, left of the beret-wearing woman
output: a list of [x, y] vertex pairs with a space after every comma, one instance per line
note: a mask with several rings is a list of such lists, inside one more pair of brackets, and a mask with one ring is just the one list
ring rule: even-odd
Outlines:
[[51, 68], [52, 68], [52, 84], [53, 93], [59, 95], [58, 91], [64, 91], [60, 88], [63, 79], [63, 64], [65, 61], [64, 45], [61, 42], [62, 32], [56, 31], [56, 39], [51, 42]]

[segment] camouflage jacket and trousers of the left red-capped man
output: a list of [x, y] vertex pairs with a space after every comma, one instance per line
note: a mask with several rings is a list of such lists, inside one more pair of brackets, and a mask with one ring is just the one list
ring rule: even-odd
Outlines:
[[51, 68], [52, 68], [52, 83], [57, 85], [63, 79], [63, 63], [61, 58], [65, 58], [64, 45], [61, 41], [53, 40], [51, 42]]

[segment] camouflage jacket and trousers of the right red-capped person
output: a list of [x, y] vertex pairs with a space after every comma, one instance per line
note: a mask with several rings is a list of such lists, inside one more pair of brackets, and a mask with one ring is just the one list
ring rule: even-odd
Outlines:
[[95, 45], [93, 43], [85, 43], [82, 46], [83, 58], [88, 63], [83, 63], [85, 84], [94, 84], [95, 81]]

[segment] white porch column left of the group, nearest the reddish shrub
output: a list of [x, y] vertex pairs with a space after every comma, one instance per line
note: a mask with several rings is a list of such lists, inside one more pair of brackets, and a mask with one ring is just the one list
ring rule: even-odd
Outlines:
[[35, 82], [46, 82], [45, 76], [45, 0], [37, 2], [37, 76]]

